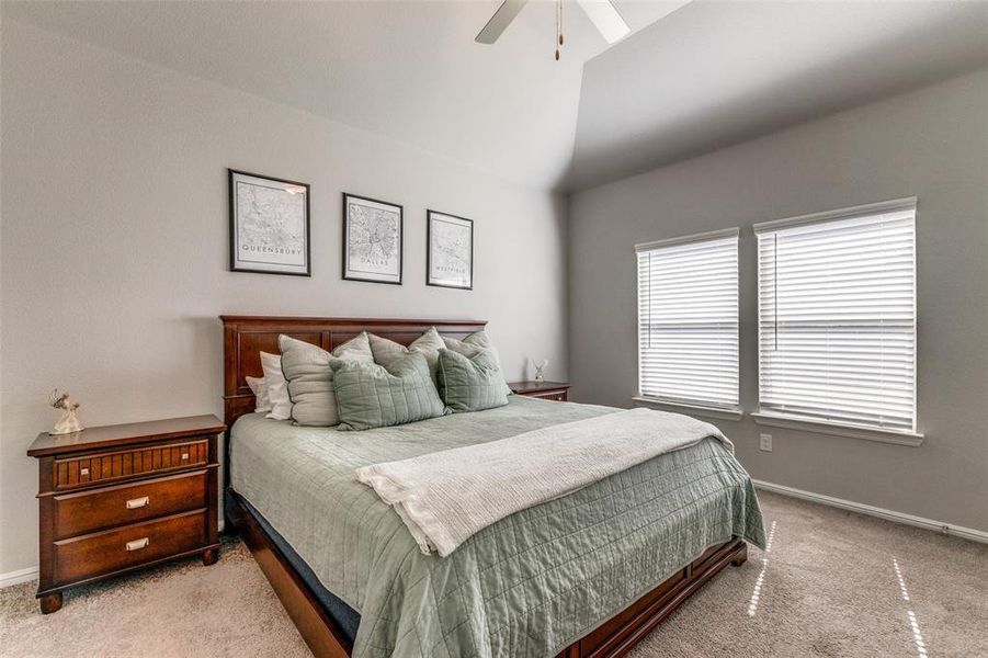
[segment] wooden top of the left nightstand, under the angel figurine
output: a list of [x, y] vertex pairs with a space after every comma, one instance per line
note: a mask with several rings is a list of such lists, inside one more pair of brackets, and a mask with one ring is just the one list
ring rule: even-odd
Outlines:
[[222, 420], [206, 413], [185, 418], [166, 418], [146, 422], [86, 428], [81, 432], [52, 435], [42, 432], [27, 449], [32, 457], [45, 457], [116, 445], [150, 443], [166, 439], [218, 434], [226, 430]]

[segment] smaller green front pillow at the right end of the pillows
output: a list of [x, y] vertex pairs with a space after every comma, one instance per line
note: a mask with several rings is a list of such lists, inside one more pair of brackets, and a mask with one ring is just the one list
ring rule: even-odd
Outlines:
[[480, 411], [508, 404], [504, 376], [493, 352], [480, 350], [465, 356], [453, 350], [439, 352], [439, 392], [454, 413]]

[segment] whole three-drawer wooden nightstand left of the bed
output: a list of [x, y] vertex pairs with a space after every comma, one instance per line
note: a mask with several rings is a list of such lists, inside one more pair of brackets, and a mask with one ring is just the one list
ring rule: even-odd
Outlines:
[[38, 434], [43, 613], [63, 590], [175, 557], [219, 557], [215, 416]]

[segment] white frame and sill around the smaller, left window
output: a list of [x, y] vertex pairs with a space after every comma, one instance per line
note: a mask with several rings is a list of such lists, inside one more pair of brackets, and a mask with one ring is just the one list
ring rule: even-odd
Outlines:
[[[678, 236], [674, 238], [667, 238], [662, 240], [654, 240], [649, 242], [639, 242], [635, 245], [635, 280], [636, 280], [636, 290], [638, 291], [639, 297], [636, 299], [636, 366], [638, 368], [638, 382], [637, 382], [637, 394], [632, 397], [632, 400], [636, 406], [648, 406], [648, 407], [659, 407], [665, 408], [671, 411], [689, 411], [695, 416], [704, 416], [711, 418], [718, 418], [725, 420], [740, 420], [743, 416], [745, 411], [741, 407], [741, 341], [740, 341], [740, 330], [741, 330], [741, 263], [740, 263], [740, 227], [725, 228], [719, 230], [704, 231], [699, 234], [691, 234], [688, 236]], [[679, 245], [691, 245], [695, 242], [705, 242], [713, 240], [722, 240], [725, 238], [735, 238], [735, 250], [736, 250], [736, 259], [737, 259], [737, 272], [735, 274], [735, 298], [737, 304], [737, 362], [735, 364], [735, 372], [737, 374], [737, 404], [729, 405], [716, 405], [714, 402], [704, 404], [702, 400], [686, 400], [681, 398], [665, 398], [657, 396], [648, 396], [643, 393], [641, 389], [641, 377], [643, 377], [643, 368], [641, 368], [641, 304], [640, 304], [640, 286], [641, 281], [638, 275], [638, 254], [643, 251], [650, 251], [654, 249], [661, 249], [663, 247], [674, 247]]]

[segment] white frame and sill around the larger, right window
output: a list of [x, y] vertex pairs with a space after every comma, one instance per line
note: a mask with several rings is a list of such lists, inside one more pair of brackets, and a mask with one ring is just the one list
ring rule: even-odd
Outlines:
[[816, 416], [804, 416], [799, 413], [791, 413], [780, 411], [771, 407], [762, 407], [762, 285], [761, 285], [761, 263], [757, 257], [756, 262], [756, 313], [758, 314], [758, 355], [757, 355], [757, 376], [758, 376], [758, 408], [750, 413], [751, 418], [759, 424], [779, 427], [785, 429], [807, 430], [816, 433], [833, 434], [839, 436], [849, 436], [854, 439], [865, 439], [870, 441], [879, 441], [883, 443], [895, 443], [899, 445], [919, 446], [922, 444], [923, 434], [919, 430], [919, 406], [918, 406], [918, 363], [919, 363], [919, 344], [918, 344], [918, 288], [919, 281], [917, 277], [917, 235], [916, 227], [919, 219], [919, 204], [916, 196], [896, 198], [878, 203], [870, 203], [864, 205], [838, 208], [822, 213], [813, 213], [808, 215], [799, 215], [796, 217], [787, 217], [784, 219], [774, 219], [772, 222], [762, 222], [752, 226], [756, 239], [760, 234], [774, 232], [786, 228], [798, 226], [807, 226], [813, 224], [821, 224], [827, 222], [836, 222], [840, 219], [852, 219], [855, 217], [865, 217], [881, 213], [895, 211], [912, 209], [913, 212], [913, 232], [912, 232], [912, 428], [893, 428], [883, 427], [871, 423], [856, 423], [842, 420], [828, 419]]

